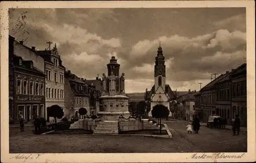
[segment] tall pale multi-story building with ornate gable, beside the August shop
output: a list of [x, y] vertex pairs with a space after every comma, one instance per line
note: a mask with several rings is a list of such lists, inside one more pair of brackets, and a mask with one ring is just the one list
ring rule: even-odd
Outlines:
[[[46, 108], [52, 105], [59, 105], [65, 108], [65, 86], [64, 73], [65, 67], [62, 65], [56, 44], [52, 50], [36, 51], [38, 55], [45, 59], [46, 74]], [[46, 112], [47, 112], [46, 109]], [[53, 120], [53, 118], [51, 118]], [[50, 117], [47, 113], [47, 121]]]

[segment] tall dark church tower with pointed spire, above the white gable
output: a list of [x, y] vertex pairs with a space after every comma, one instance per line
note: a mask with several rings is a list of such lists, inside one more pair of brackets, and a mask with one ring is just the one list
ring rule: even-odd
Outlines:
[[165, 93], [165, 64], [161, 44], [159, 45], [155, 61], [155, 91], [156, 94]]

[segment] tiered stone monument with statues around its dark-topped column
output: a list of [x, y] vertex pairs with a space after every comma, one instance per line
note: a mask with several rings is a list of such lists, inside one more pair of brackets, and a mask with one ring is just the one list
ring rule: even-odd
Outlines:
[[124, 91], [124, 73], [119, 77], [119, 64], [113, 56], [108, 64], [108, 77], [103, 74], [103, 94], [100, 99], [100, 115], [102, 121], [118, 121], [119, 116], [129, 118], [128, 99]]

